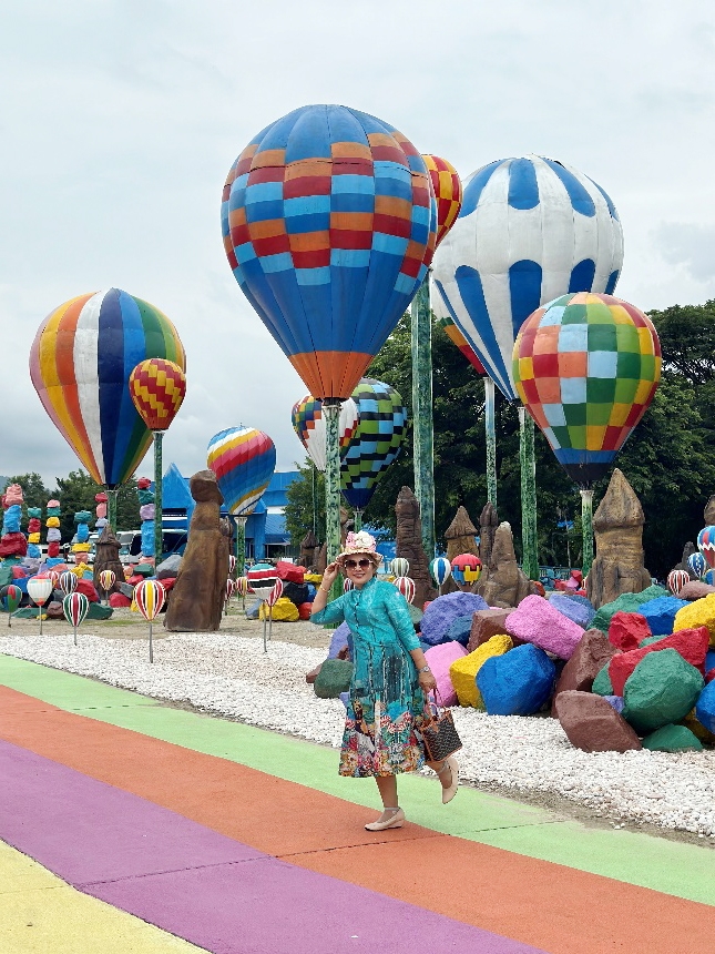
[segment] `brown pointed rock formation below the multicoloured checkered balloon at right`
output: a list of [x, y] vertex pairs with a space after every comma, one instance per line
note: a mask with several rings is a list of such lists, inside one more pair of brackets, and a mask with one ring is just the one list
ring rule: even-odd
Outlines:
[[616, 467], [593, 515], [596, 556], [586, 593], [596, 609], [621, 593], [639, 593], [651, 586], [651, 575], [643, 566], [644, 522], [641, 501]]

